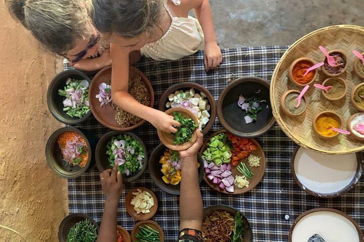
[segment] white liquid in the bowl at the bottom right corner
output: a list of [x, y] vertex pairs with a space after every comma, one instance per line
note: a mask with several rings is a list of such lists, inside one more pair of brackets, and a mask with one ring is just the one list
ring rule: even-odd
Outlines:
[[347, 218], [333, 212], [314, 212], [303, 217], [292, 232], [292, 242], [307, 242], [313, 234], [326, 242], [359, 242], [359, 234]]

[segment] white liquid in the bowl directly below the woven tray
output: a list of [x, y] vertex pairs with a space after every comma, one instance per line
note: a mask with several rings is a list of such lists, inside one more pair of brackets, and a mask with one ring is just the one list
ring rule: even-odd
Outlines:
[[326, 155], [299, 148], [294, 168], [300, 183], [319, 194], [338, 192], [348, 186], [356, 174], [356, 154]]

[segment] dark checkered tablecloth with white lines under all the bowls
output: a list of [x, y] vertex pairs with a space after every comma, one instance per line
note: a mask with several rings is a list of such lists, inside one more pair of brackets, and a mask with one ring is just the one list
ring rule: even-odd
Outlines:
[[[222, 65], [206, 74], [203, 53], [185, 57], [178, 61], [155, 62], [145, 57], [136, 65], [150, 80], [155, 93], [155, 107], [162, 93], [177, 82], [196, 82], [205, 86], [215, 100], [222, 89], [242, 76], [257, 76], [270, 80], [277, 62], [288, 46], [248, 47], [224, 49]], [[65, 68], [67, 65], [65, 65]], [[109, 130], [92, 116], [87, 123], [77, 125], [92, 132], [97, 138]], [[221, 129], [216, 118], [210, 131]], [[148, 153], [160, 143], [156, 129], [145, 123], [133, 130], [145, 142]], [[302, 191], [291, 176], [290, 158], [296, 145], [289, 140], [279, 126], [257, 138], [266, 157], [266, 170], [262, 181], [252, 191], [237, 196], [228, 196], [212, 190], [204, 181], [201, 192], [204, 207], [224, 204], [239, 209], [249, 220], [254, 241], [288, 241], [288, 232], [294, 219], [302, 212], [319, 207], [341, 210], [351, 216], [364, 228], [364, 181], [346, 195], [335, 199], [319, 199]], [[166, 241], [176, 241], [179, 225], [179, 197], [159, 190], [149, 176], [148, 170], [134, 183], [124, 187], [118, 207], [118, 224], [129, 232], [136, 223], [125, 210], [126, 193], [134, 187], [146, 187], [158, 197], [158, 211], [152, 218], [164, 229]], [[95, 166], [82, 176], [68, 180], [70, 213], [84, 213], [101, 222], [105, 197], [100, 184], [99, 171]], [[289, 219], [285, 219], [289, 215]], [[344, 241], [342, 241], [344, 242]], [[345, 241], [349, 242], [349, 241]]]

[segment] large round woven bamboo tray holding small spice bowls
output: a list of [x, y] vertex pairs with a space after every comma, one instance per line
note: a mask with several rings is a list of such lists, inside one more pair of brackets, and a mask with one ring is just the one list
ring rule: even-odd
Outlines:
[[[301, 90], [291, 83], [288, 78], [289, 66], [299, 57], [310, 57], [316, 63], [325, 58], [319, 49], [323, 45], [328, 51], [341, 49], [348, 54], [348, 68], [340, 75], [346, 80], [348, 90], [346, 97], [341, 101], [329, 101], [321, 90], [315, 90], [313, 84], [306, 92], [306, 114], [298, 118], [285, 115], [281, 110], [281, 97], [291, 89]], [[273, 114], [283, 132], [298, 145], [325, 154], [347, 154], [364, 149], [364, 142], [357, 141], [351, 136], [339, 135], [337, 138], [323, 140], [314, 134], [312, 119], [321, 111], [333, 111], [343, 120], [346, 129], [347, 119], [357, 111], [350, 103], [352, 88], [361, 83], [361, 80], [353, 72], [353, 63], [356, 56], [353, 50], [364, 51], [364, 27], [354, 25], [335, 25], [316, 30], [297, 40], [282, 56], [273, 73], [270, 83], [270, 103]], [[328, 77], [319, 68], [315, 83], [322, 84]]]

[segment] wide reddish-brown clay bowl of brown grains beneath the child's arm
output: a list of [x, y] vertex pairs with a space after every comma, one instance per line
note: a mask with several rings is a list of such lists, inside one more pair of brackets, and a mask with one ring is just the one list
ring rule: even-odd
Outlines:
[[[99, 92], [100, 92], [99, 85], [103, 82], [105, 82], [106, 84], [110, 84], [111, 72], [112, 72], [111, 66], [105, 67], [100, 72], [98, 72], [98, 74], [96, 74], [91, 85], [89, 86], [88, 100], [89, 100], [91, 111], [93, 112], [96, 119], [102, 125], [106, 126], [107, 128], [110, 128], [112, 130], [117, 130], [117, 131], [129, 131], [129, 130], [135, 129], [135, 128], [141, 126], [145, 122], [145, 120], [142, 119], [142, 120], [140, 120], [140, 122], [136, 123], [133, 126], [130, 126], [127, 128], [121, 128], [120, 125], [115, 120], [116, 109], [114, 109], [114, 107], [112, 105], [104, 105], [101, 107], [99, 99], [96, 98], [96, 95], [99, 94]], [[129, 78], [131, 79], [134, 76], [142, 77], [142, 80], [146, 84], [146, 86], [149, 90], [149, 95], [151, 97], [149, 106], [153, 107], [154, 91], [153, 91], [152, 85], [150, 84], [147, 77], [141, 71], [139, 71], [135, 67], [129, 66]]]

